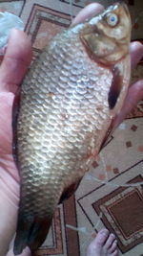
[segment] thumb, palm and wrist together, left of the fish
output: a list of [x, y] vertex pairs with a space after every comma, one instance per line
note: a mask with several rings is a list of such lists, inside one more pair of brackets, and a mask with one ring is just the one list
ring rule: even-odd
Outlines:
[[[0, 255], [6, 255], [15, 232], [19, 175], [11, 153], [11, 111], [14, 94], [31, 62], [31, 42], [14, 31], [0, 66]], [[12, 255], [12, 254], [11, 254]]]

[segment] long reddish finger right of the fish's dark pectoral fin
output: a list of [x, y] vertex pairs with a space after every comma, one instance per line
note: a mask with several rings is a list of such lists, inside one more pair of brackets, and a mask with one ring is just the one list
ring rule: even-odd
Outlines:
[[131, 112], [133, 107], [137, 105], [139, 101], [143, 99], [143, 80], [136, 81], [129, 88], [126, 100], [120, 113], [116, 116], [113, 122], [113, 130], [125, 119], [125, 117]]

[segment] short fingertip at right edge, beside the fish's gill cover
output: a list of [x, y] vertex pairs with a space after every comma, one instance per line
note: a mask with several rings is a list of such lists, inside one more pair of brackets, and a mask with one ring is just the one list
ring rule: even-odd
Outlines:
[[140, 42], [134, 41], [130, 46], [132, 68], [135, 68], [141, 58], [143, 58], [143, 45]]

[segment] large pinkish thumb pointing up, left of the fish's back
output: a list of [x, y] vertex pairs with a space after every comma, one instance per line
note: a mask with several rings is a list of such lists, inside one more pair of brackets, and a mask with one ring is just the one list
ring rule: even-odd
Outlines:
[[12, 30], [0, 67], [0, 91], [15, 92], [31, 63], [31, 41], [24, 32]]

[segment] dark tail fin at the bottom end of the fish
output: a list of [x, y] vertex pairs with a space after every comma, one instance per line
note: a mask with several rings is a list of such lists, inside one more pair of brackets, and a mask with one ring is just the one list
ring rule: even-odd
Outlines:
[[25, 216], [19, 217], [16, 237], [14, 241], [14, 255], [21, 254], [26, 246], [35, 251], [46, 239], [51, 226], [51, 220], [48, 218]]

